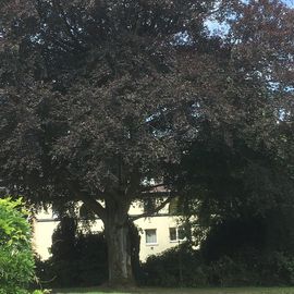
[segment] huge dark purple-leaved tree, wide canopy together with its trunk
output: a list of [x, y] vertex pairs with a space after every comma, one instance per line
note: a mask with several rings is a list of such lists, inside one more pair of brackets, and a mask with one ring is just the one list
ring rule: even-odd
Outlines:
[[229, 173], [266, 150], [292, 173], [293, 10], [280, 1], [5, 0], [0, 12], [0, 179], [98, 215], [112, 282], [132, 278], [131, 201], [150, 180], [185, 189], [173, 168], [193, 148], [228, 148]]

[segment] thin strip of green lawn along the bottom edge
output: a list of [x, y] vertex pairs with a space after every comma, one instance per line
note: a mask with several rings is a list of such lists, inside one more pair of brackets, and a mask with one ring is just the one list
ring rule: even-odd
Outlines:
[[294, 287], [218, 287], [218, 289], [151, 289], [151, 287], [142, 287], [132, 291], [111, 291], [111, 290], [101, 290], [101, 289], [72, 289], [72, 290], [59, 290], [53, 293], [66, 293], [66, 294], [78, 294], [78, 293], [88, 293], [88, 294], [102, 294], [102, 293], [112, 293], [112, 294], [294, 294]]

